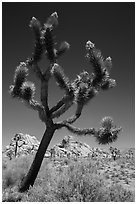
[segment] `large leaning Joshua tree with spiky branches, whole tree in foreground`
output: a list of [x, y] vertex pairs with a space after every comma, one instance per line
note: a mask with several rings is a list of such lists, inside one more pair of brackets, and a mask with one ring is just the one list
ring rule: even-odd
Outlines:
[[[107, 90], [115, 86], [115, 80], [110, 78], [109, 71], [112, 62], [111, 58], [103, 58], [101, 51], [95, 48], [91, 41], [86, 43], [86, 58], [93, 67], [93, 73], [82, 71], [74, 81], [70, 81], [65, 76], [63, 69], [58, 64], [59, 57], [69, 49], [67, 42], [62, 42], [60, 46], [54, 42], [54, 29], [58, 24], [57, 13], [53, 13], [42, 26], [33, 17], [30, 27], [35, 34], [35, 46], [32, 57], [25, 62], [21, 62], [15, 70], [14, 83], [10, 86], [10, 94], [13, 98], [18, 98], [27, 106], [36, 110], [40, 120], [45, 123], [46, 130], [42, 137], [39, 149], [28, 174], [24, 177], [20, 186], [20, 191], [28, 190], [33, 186], [39, 172], [42, 160], [53, 134], [60, 128], [67, 128], [70, 132], [77, 135], [93, 135], [99, 144], [107, 144], [117, 139], [121, 128], [113, 125], [111, 118], [106, 117], [102, 121], [102, 127], [98, 130], [94, 128], [80, 129], [72, 125], [80, 116], [83, 107], [95, 97], [101, 90]], [[39, 62], [43, 56], [49, 61], [49, 66], [45, 71], [39, 67]], [[41, 82], [40, 100], [34, 99], [35, 86], [27, 81], [28, 71], [32, 69]], [[51, 109], [48, 105], [48, 84], [51, 77], [54, 77], [57, 85], [65, 91], [64, 96]], [[74, 115], [64, 121], [54, 122], [73, 104], [76, 104]]]

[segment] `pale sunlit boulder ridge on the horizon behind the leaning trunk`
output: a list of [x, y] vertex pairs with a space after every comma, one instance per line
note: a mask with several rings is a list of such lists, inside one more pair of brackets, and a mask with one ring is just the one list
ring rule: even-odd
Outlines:
[[[35, 154], [40, 142], [35, 136], [18, 133], [12, 139], [11, 143], [5, 147], [3, 155], [9, 159]], [[132, 158], [134, 156], [132, 148], [121, 152], [119, 156]], [[76, 141], [72, 136], [65, 136], [64, 139], [46, 151], [45, 158], [62, 157], [91, 157], [91, 158], [112, 158], [111, 151], [106, 151], [97, 147], [91, 148], [86, 143]]]

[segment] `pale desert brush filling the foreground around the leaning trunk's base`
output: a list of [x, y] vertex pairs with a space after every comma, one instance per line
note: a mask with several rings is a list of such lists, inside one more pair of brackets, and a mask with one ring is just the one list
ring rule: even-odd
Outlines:
[[[108, 186], [103, 160], [79, 158], [60, 163], [45, 159], [33, 188], [18, 193], [17, 186], [27, 172], [31, 157], [20, 157], [7, 163], [3, 170], [3, 201], [7, 202], [131, 202], [134, 192], [113, 181]], [[108, 163], [107, 163], [108, 164]]]

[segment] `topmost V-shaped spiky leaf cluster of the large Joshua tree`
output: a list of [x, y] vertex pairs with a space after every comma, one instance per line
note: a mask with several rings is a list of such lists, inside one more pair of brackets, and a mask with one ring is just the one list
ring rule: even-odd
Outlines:
[[30, 27], [35, 33], [36, 41], [32, 59], [29, 61], [30, 65], [37, 63], [44, 52], [50, 62], [54, 63], [59, 56], [69, 49], [69, 44], [67, 42], [62, 42], [58, 49], [55, 48], [56, 43], [54, 42], [55, 36], [53, 34], [53, 29], [57, 25], [58, 15], [56, 12], [50, 15], [43, 26], [41, 26], [40, 22], [35, 17], [32, 18]]

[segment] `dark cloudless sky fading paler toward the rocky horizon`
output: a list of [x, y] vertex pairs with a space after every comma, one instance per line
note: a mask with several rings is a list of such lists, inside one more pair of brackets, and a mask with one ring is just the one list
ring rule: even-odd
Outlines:
[[[85, 58], [85, 44], [92, 41], [104, 58], [111, 56], [113, 67], [111, 78], [117, 86], [100, 92], [84, 107], [76, 127], [100, 127], [104, 116], [111, 116], [114, 123], [123, 128], [118, 140], [110, 145], [98, 145], [92, 136], [74, 136], [91, 147], [126, 148], [135, 146], [135, 4], [82, 3], [82, 2], [3, 2], [2, 3], [2, 145], [5, 147], [19, 132], [34, 135], [40, 141], [45, 125], [36, 111], [22, 102], [12, 99], [8, 93], [19, 62], [31, 57], [34, 35], [29, 22], [34, 16], [41, 23], [53, 13], [58, 13], [59, 25], [55, 30], [56, 42], [67, 41], [70, 50], [60, 58], [59, 64], [70, 79], [83, 70], [92, 72]], [[48, 66], [45, 59], [42, 70]], [[40, 84], [31, 72], [29, 80], [36, 85], [36, 100], [40, 96]], [[54, 79], [49, 83], [49, 106], [52, 107], [63, 96]], [[73, 106], [59, 121], [74, 114]], [[57, 120], [56, 120], [57, 121]], [[66, 129], [56, 131], [49, 148], [59, 143], [65, 135], [73, 135]]]

